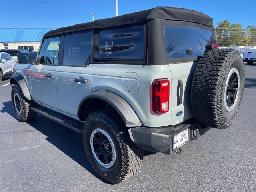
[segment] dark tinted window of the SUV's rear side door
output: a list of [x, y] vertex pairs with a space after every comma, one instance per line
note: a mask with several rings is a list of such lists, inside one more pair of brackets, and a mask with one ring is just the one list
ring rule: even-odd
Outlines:
[[92, 53], [92, 32], [66, 35], [64, 39], [63, 65], [89, 65]]

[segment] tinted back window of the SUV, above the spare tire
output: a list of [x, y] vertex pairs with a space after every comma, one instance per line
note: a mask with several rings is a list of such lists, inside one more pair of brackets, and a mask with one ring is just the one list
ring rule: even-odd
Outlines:
[[193, 27], [164, 27], [168, 58], [202, 56], [205, 45], [216, 43], [214, 33]]

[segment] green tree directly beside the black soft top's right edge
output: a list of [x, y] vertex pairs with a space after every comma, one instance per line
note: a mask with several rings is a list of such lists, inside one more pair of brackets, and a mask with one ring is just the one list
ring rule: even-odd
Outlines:
[[215, 28], [215, 36], [219, 45], [226, 46], [230, 32], [230, 22], [228, 20], [218, 22]]

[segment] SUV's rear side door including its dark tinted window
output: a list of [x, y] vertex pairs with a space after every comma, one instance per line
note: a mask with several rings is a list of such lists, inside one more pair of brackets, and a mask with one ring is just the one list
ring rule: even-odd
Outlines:
[[90, 94], [92, 72], [92, 32], [63, 36], [63, 62], [57, 69], [56, 87], [59, 110], [73, 117], [82, 99]]

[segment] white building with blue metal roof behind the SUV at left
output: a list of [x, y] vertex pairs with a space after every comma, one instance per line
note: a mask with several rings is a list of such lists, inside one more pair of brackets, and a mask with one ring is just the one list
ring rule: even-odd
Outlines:
[[0, 29], [0, 49], [38, 50], [40, 42], [52, 29]]

